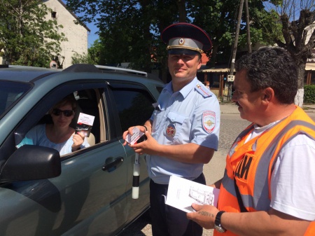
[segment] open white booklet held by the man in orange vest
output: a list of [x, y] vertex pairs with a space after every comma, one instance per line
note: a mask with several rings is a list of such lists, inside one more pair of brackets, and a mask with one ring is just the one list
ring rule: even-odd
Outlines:
[[191, 204], [210, 204], [216, 207], [218, 203], [218, 188], [212, 188], [179, 176], [171, 176], [165, 204], [182, 211], [193, 212]]

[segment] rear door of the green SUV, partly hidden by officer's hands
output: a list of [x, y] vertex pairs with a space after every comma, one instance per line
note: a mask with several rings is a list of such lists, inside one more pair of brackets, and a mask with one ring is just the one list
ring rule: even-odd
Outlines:
[[[109, 81], [109, 92], [117, 109], [122, 132], [134, 125], [143, 125], [151, 118], [155, 97], [141, 83], [127, 81]], [[149, 207], [150, 179], [146, 168], [146, 155], [139, 156], [140, 178], [139, 198], [132, 199], [132, 181], [134, 168], [134, 151], [126, 146], [127, 153], [127, 221], [132, 221]]]

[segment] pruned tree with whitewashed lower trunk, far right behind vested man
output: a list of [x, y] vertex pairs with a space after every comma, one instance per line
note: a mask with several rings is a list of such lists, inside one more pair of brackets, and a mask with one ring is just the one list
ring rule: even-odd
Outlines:
[[[271, 45], [286, 48], [298, 67], [298, 92], [295, 104], [302, 106], [307, 59], [314, 48], [315, 0], [274, 0], [266, 5], [269, 15], [255, 19]], [[279, 32], [281, 31], [281, 34]]]

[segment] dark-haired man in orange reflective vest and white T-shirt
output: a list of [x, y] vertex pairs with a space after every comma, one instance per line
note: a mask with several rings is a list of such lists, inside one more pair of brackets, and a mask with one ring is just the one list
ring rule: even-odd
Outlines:
[[218, 208], [193, 204], [187, 216], [214, 235], [315, 235], [315, 123], [294, 104], [297, 66], [283, 48], [266, 47], [235, 69], [232, 101], [252, 124], [213, 185]]

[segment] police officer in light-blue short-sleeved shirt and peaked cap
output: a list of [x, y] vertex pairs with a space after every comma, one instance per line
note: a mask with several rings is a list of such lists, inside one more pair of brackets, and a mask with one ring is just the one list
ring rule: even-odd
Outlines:
[[[150, 200], [153, 236], [202, 235], [202, 227], [186, 213], [165, 204], [169, 177], [205, 183], [202, 168], [218, 148], [220, 106], [216, 95], [197, 80], [204, 50], [211, 40], [200, 27], [188, 23], [170, 25], [162, 32], [168, 44], [168, 67], [172, 81], [162, 90], [155, 111], [139, 130], [147, 140], [131, 145], [146, 153], [151, 177]], [[125, 139], [130, 127], [124, 132]]]

